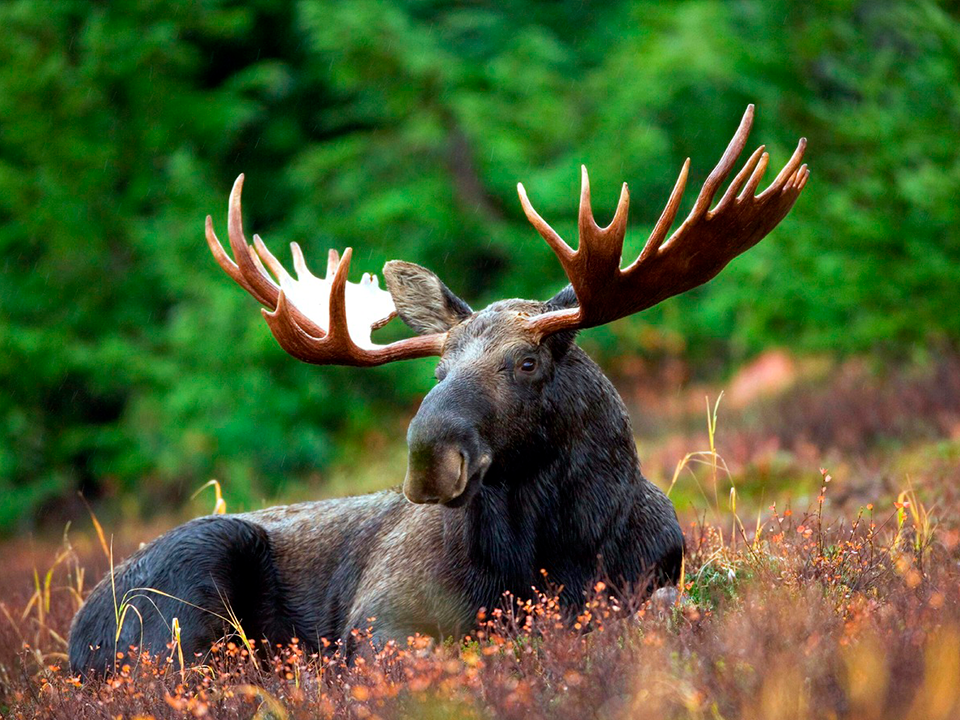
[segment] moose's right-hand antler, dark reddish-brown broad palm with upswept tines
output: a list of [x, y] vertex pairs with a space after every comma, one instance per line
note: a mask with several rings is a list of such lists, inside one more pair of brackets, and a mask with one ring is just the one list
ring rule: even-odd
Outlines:
[[807, 146], [805, 138], [801, 138], [793, 156], [770, 187], [754, 195], [770, 159], [760, 146], [733, 179], [720, 202], [709, 209], [720, 185], [743, 152], [753, 125], [753, 112], [753, 105], [748, 106], [726, 152], [703, 184], [693, 210], [664, 242], [687, 183], [690, 169], [690, 159], [687, 158], [643, 251], [625, 270], [620, 269], [620, 261], [630, 206], [626, 183], [613, 221], [601, 228], [593, 219], [590, 181], [586, 167], [582, 168], [580, 244], [576, 250], [540, 217], [527, 199], [523, 185], [518, 184], [517, 191], [527, 219], [557, 255], [579, 304], [576, 308], [529, 318], [530, 327], [542, 335], [550, 335], [564, 329], [603, 325], [640, 312], [711, 280], [733, 258], [773, 230], [793, 207], [810, 177], [807, 166], [800, 164]]

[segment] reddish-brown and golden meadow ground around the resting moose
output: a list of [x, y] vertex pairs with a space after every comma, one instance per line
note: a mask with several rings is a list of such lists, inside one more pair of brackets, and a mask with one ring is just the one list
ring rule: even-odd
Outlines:
[[538, 602], [505, 599], [460, 643], [412, 638], [348, 667], [297, 644], [258, 661], [235, 636], [181, 670], [172, 633], [167, 653], [123, 654], [84, 686], [63, 666], [70, 618], [111, 537], [119, 560], [164, 526], [101, 537], [86, 518], [0, 546], [0, 716], [960, 717], [960, 359], [771, 353], [719, 411], [715, 388], [621, 375], [646, 474], [684, 525], [675, 602], [618, 603], [598, 583], [570, 627], [545, 578]]

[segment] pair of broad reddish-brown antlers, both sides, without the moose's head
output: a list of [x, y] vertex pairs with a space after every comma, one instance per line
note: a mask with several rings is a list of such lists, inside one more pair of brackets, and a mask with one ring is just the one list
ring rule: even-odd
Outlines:
[[[656, 305], [674, 295], [702, 285], [740, 253], [756, 245], [786, 216], [807, 183], [810, 172], [801, 165], [806, 140], [777, 176], [759, 195], [754, 193], [767, 169], [769, 156], [761, 146], [750, 156], [711, 210], [710, 204], [743, 152], [753, 124], [753, 105], [747, 108], [733, 140], [710, 173], [696, 204], [683, 224], [664, 242], [680, 207], [690, 169], [689, 158], [670, 199], [660, 215], [640, 256], [620, 269], [627, 227], [630, 195], [624, 183], [613, 221], [601, 228], [590, 208], [590, 183], [583, 168], [580, 191], [580, 244], [570, 248], [533, 209], [523, 185], [517, 185], [527, 218], [556, 253], [577, 296], [578, 306], [527, 318], [539, 337], [560, 330], [587, 328], [612, 322]], [[303, 253], [291, 243], [297, 278], [294, 279], [267, 250], [259, 236], [253, 246], [243, 234], [240, 192], [243, 175], [230, 193], [228, 235], [236, 262], [224, 252], [207, 217], [207, 243], [220, 267], [233, 280], [265, 305], [263, 316], [270, 331], [288, 353], [318, 365], [381, 365], [408, 358], [439, 355], [446, 333], [420, 335], [389, 345], [376, 345], [373, 330], [396, 315], [388, 292], [375, 277], [365, 274], [360, 283], [347, 282], [352, 250], [341, 259], [330, 251], [327, 274], [314, 276]], [[273, 280], [267, 268], [276, 276]]]

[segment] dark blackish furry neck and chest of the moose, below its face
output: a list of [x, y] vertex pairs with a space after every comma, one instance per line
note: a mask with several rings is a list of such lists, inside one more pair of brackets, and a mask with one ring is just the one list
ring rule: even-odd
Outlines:
[[626, 408], [582, 350], [570, 349], [544, 396], [536, 435], [502, 453], [477, 497], [447, 516], [448, 537], [490, 581], [480, 587], [525, 595], [542, 585], [540, 570], [582, 587], [641, 482]]

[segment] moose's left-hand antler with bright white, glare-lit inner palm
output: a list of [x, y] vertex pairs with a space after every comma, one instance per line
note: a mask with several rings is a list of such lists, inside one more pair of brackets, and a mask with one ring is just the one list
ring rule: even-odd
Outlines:
[[[381, 290], [375, 276], [364, 274], [360, 283], [347, 282], [352, 248], [341, 258], [331, 250], [327, 274], [318, 278], [307, 269], [303, 252], [291, 243], [297, 279], [284, 269], [259, 235], [253, 246], [243, 234], [240, 194], [243, 175], [230, 192], [227, 235], [236, 262], [224, 251], [207, 216], [207, 244], [217, 263], [234, 282], [261, 305], [270, 331], [284, 350], [315, 365], [382, 365], [394, 360], [439, 355], [445, 335], [421, 335], [389, 345], [376, 345], [370, 333], [396, 315], [390, 293]], [[266, 265], [266, 267], [264, 267]], [[267, 273], [273, 271], [276, 281]], [[349, 307], [348, 307], [349, 306]]]

